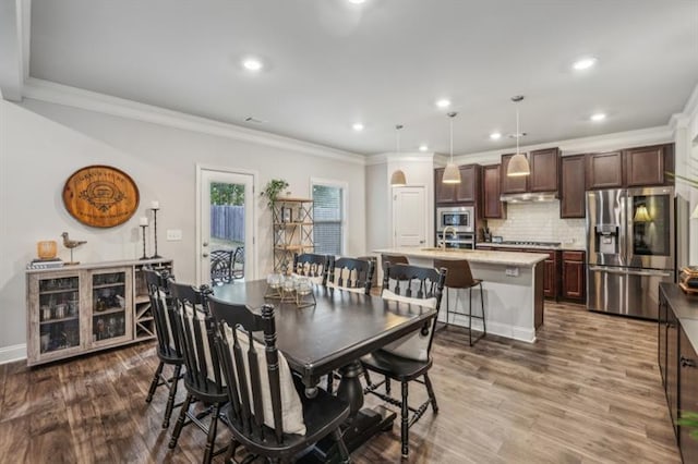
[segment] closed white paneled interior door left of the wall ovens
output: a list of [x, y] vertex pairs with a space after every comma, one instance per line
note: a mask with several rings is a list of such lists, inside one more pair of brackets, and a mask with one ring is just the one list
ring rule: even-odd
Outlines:
[[420, 186], [393, 188], [393, 246], [425, 246], [425, 196]]

